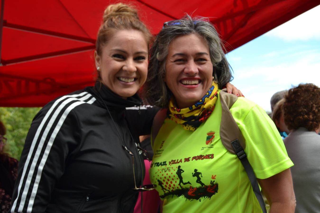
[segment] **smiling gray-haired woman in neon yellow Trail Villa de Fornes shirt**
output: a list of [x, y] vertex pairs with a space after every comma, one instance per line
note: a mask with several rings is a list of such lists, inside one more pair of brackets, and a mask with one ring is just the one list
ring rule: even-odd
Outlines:
[[[165, 189], [156, 188], [163, 212], [262, 212], [244, 167], [220, 139], [223, 92], [218, 87], [232, 79], [222, 46], [208, 19], [187, 15], [165, 22], [151, 48], [146, 98], [167, 109], [162, 126], [153, 126], [150, 169], [151, 181], [161, 181]], [[244, 97], [230, 112], [270, 213], [294, 212], [293, 164], [272, 120]], [[183, 182], [189, 182], [182, 187], [178, 166], [184, 170]], [[193, 177], [195, 169], [203, 184]]]

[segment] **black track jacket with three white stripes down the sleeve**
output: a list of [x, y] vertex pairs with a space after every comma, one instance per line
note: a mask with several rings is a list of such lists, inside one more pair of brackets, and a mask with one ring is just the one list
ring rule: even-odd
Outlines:
[[150, 133], [158, 111], [140, 104], [97, 82], [45, 105], [26, 138], [11, 212], [133, 212], [138, 193], [123, 146], [140, 186], [145, 169], [132, 138]]

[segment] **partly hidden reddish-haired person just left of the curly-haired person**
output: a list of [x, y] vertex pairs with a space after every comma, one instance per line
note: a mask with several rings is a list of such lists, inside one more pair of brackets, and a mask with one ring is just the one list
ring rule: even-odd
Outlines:
[[274, 110], [272, 112], [272, 120], [275, 123], [282, 139], [284, 139], [285, 137], [288, 136], [288, 134], [290, 133], [290, 130], [288, 129], [288, 127], [285, 125], [284, 123], [284, 111], [283, 111], [283, 103], [284, 103], [284, 98], [279, 100], [275, 106], [274, 106]]

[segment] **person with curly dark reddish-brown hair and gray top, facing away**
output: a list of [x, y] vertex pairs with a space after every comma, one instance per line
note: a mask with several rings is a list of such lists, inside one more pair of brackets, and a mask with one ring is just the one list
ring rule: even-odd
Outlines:
[[296, 210], [320, 209], [320, 87], [300, 84], [285, 96], [284, 122], [292, 132], [284, 145], [294, 166], [291, 167]]

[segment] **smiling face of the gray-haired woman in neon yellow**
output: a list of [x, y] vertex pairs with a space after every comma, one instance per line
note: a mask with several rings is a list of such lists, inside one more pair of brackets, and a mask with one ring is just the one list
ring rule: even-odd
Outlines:
[[197, 34], [182, 35], [169, 45], [165, 82], [177, 106], [187, 108], [199, 101], [212, 84], [209, 47]]

